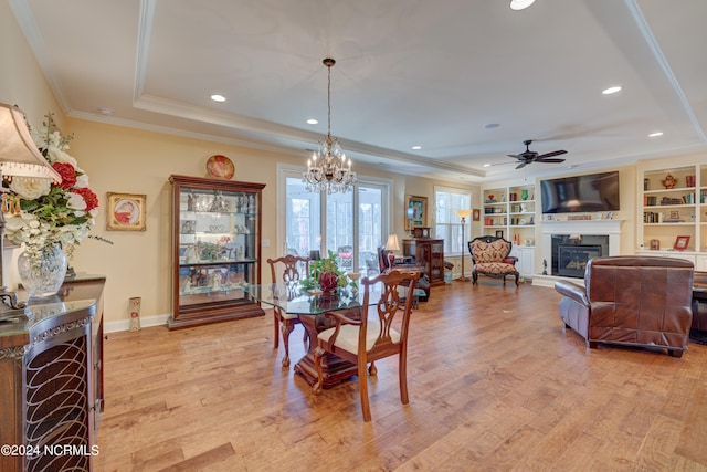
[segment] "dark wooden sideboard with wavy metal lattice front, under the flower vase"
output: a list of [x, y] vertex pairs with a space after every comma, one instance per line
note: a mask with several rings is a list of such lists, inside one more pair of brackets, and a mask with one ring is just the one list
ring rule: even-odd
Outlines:
[[[104, 276], [0, 322], [0, 470], [93, 470], [103, 410]], [[21, 295], [20, 295], [21, 297]]]

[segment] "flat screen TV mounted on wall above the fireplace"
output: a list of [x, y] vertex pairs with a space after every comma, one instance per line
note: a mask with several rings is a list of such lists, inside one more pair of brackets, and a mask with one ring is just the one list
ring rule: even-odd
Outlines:
[[541, 180], [540, 190], [542, 213], [620, 209], [618, 171]]

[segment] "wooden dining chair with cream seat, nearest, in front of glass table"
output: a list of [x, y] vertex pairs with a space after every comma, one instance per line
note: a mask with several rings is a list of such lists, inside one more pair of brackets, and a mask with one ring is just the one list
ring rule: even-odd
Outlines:
[[[341, 359], [358, 366], [358, 387], [361, 397], [361, 410], [363, 421], [371, 420], [371, 409], [368, 400], [368, 374], [377, 375], [376, 360], [389, 356], [398, 356], [398, 379], [400, 384], [400, 401], [408, 405], [408, 328], [410, 314], [412, 313], [413, 297], [408, 296], [403, 301], [398, 291], [401, 284], [408, 284], [411, 293], [420, 277], [418, 272], [390, 271], [371, 279], [363, 279], [363, 304], [369, 306], [371, 286], [381, 283], [382, 293], [378, 304], [373, 305], [374, 314], [369, 319], [367, 308], [362, 308], [360, 319], [347, 316], [347, 312], [329, 312], [325, 316], [333, 318], [334, 327], [323, 331], [317, 336], [315, 348], [315, 364], [317, 366], [318, 381], [313, 387], [315, 395], [321, 394], [324, 384], [323, 357], [331, 353]], [[403, 310], [400, 310], [400, 308]], [[349, 312], [350, 314], [350, 312]], [[393, 327], [395, 315], [401, 316], [400, 331]]]

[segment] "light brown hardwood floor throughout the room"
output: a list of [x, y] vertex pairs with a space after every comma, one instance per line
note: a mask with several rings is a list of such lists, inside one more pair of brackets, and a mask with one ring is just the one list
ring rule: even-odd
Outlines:
[[[707, 346], [589, 350], [553, 289], [433, 287], [393, 358], [315, 397], [273, 349], [272, 312], [105, 342], [99, 471], [706, 471]], [[304, 353], [291, 338], [293, 364]]]

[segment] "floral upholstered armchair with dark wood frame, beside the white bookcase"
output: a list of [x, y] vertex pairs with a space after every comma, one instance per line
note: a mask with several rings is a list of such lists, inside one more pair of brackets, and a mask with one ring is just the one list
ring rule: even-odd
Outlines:
[[489, 277], [503, 279], [506, 285], [506, 275], [516, 279], [518, 286], [518, 258], [508, 255], [513, 243], [503, 238], [484, 235], [474, 238], [468, 242], [468, 252], [472, 254], [474, 268], [472, 270], [472, 283], [476, 284], [478, 274]]

